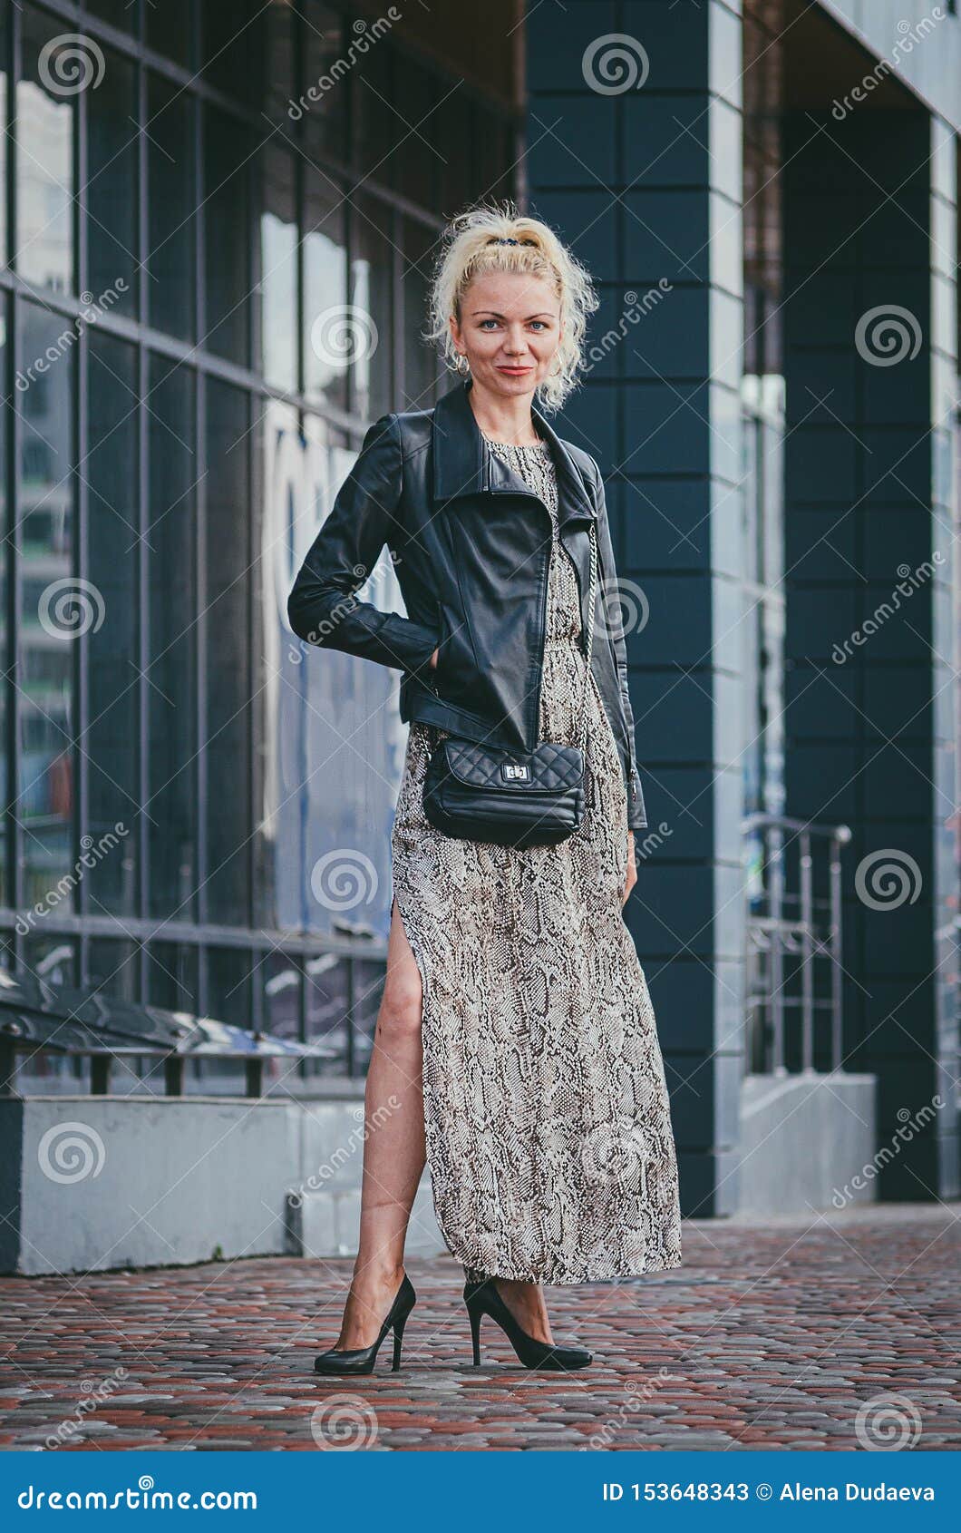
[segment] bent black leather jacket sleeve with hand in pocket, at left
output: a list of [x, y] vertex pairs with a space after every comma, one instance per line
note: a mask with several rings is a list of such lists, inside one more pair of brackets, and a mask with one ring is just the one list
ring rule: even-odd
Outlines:
[[290, 625], [308, 644], [345, 650], [411, 673], [437, 647], [434, 629], [379, 612], [356, 592], [385, 544], [402, 541], [395, 517], [403, 484], [403, 457], [395, 415], [382, 415], [363, 438], [360, 454], [337, 491], [331, 514], [314, 538], [287, 599]]

